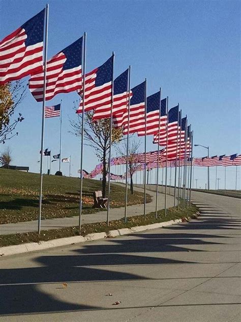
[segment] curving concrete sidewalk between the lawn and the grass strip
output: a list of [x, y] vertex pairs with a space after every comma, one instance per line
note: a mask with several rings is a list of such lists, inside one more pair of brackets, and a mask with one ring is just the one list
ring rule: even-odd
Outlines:
[[[143, 189], [140, 187], [134, 187], [134, 190], [143, 192]], [[152, 201], [146, 204], [146, 213], [156, 210], [156, 192], [147, 191], [147, 193], [152, 197]], [[165, 206], [165, 196], [159, 194], [158, 198], [158, 209], [161, 210]], [[167, 196], [167, 207], [173, 206], [173, 197]], [[110, 220], [117, 220], [124, 217], [125, 207], [121, 208], [112, 208], [110, 209]], [[127, 216], [138, 216], [143, 214], [143, 204], [128, 206]], [[82, 223], [90, 224], [97, 223], [106, 220], [107, 211], [101, 211], [96, 213], [83, 214]], [[42, 230], [49, 229], [58, 229], [63, 227], [72, 227], [77, 226], [79, 222], [78, 216], [75, 217], [66, 217], [66, 218], [55, 218], [55, 219], [46, 219], [41, 222]], [[37, 231], [38, 221], [34, 220], [31, 222], [21, 222], [16, 224], [3, 224], [0, 225], [0, 235], [15, 234], [15, 233], [24, 233], [30, 231]]]

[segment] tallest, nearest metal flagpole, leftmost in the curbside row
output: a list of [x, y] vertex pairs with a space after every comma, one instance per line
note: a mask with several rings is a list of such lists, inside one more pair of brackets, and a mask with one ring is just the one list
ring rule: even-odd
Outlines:
[[46, 96], [46, 74], [47, 74], [47, 47], [48, 47], [48, 5], [45, 10], [45, 41], [44, 41], [44, 84], [43, 84], [43, 106], [42, 106], [42, 133], [41, 133], [41, 157], [40, 157], [40, 194], [39, 194], [39, 218], [38, 233], [41, 232], [41, 212], [43, 194], [43, 149], [44, 149], [44, 123], [45, 123], [45, 96]]

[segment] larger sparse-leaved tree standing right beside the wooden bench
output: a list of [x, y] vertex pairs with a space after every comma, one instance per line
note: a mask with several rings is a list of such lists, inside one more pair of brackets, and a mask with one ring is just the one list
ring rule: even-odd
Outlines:
[[[93, 121], [94, 112], [89, 111], [84, 115], [84, 144], [93, 148], [95, 153], [103, 164], [102, 176], [102, 195], [106, 195], [106, 176], [108, 172], [108, 160], [110, 149], [110, 120], [101, 119]], [[78, 115], [77, 120], [70, 120], [72, 130], [70, 133], [77, 137], [81, 137], [81, 121], [82, 115]], [[117, 144], [122, 140], [122, 129], [112, 128], [112, 145]]]

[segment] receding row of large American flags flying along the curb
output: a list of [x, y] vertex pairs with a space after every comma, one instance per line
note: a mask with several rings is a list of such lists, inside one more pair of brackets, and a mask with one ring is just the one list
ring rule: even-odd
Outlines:
[[[44, 90], [45, 10], [29, 19], [0, 43], [0, 51], [3, 53], [0, 60], [0, 84], [30, 75], [28, 87], [37, 101], [43, 101]], [[129, 69], [113, 79], [113, 54], [104, 64], [82, 75], [82, 51], [83, 37], [80, 37], [47, 61], [45, 100], [50, 100], [59, 93], [77, 91], [82, 99], [76, 112], [81, 113], [84, 76], [84, 110], [94, 111], [93, 120], [110, 117], [113, 92], [113, 126], [123, 127], [124, 135], [128, 132], [137, 133], [138, 136], [154, 135], [154, 143], [166, 146], [168, 159], [176, 158], [177, 154], [179, 158], [184, 157], [185, 149], [187, 153], [190, 152], [187, 118], [180, 117], [178, 105], [168, 111], [168, 99], [161, 100], [161, 91], [158, 91], [146, 98], [145, 106], [146, 80], [132, 89], [128, 88]], [[45, 118], [59, 116], [60, 110], [60, 104], [47, 106]], [[185, 140], [186, 131], [189, 135]]]

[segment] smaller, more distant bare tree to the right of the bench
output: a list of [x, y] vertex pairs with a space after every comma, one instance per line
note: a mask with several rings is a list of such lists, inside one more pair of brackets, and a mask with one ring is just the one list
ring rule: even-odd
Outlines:
[[[129, 139], [129, 157], [128, 157], [128, 171], [131, 178], [131, 194], [134, 194], [134, 185], [133, 185], [133, 174], [138, 169], [138, 163], [136, 163], [136, 154], [139, 152], [140, 141], [135, 141], [130, 137]], [[127, 159], [127, 140], [124, 140], [124, 144], [122, 147], [117, 149], [118, 153], [125, 159]], [[127, 175], [127, 174], [126, 174]]]

